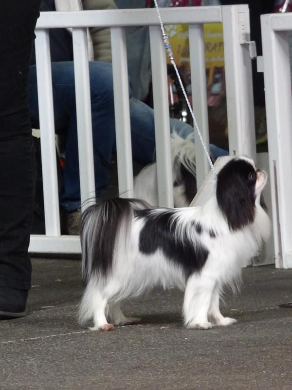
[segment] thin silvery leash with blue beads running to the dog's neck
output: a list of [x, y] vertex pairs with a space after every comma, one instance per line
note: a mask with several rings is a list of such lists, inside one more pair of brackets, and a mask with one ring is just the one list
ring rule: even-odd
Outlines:
[[201, 141], [202, 147], [203, 147], [203, 149], [204, 149], [205, 155], [207, 156], [207, 159], [208, 159], [208, 162], [209, 162], [209, 164], [210, 164], [211, 170], [212, 170], [213, 174], [214, 174], [215, 176], [217, 176], [217, 173], [216, 173], [216, 171], [215, 171], [213, 162], [212, 162], [212, 160], [211, 160], [211, 157], [210, 157], [210, 155], [209, 155], [209, 152], [208, 152], [208, 150], [207, 150], [207, 148], [206, 148], [206, 145], [205, 145], [205, 143], [204, 143], [203, 136], [201, 135], [201, 131], [200, 131], [200, 129], [199, 129], [199, 126], [198, 126], [197, 120], [196, 120], [196, 118], [195, 118], [193, 109], [192, 109], [192, 107], [191, 107], [191, 104], [190, 104], [190, 102], [189, 102], [189, 99], [188, 99], [188, 97], [187, 97], [187, 94], [186, 94], [186, 92], [185, 92], [185, 89], [184, 89], [184, 87], [183, 87], [183, 82], [182, 82], [181, 76], [180, 76], [180, 74], [179, 74], [178, 68], [177, 68], [177, 66], [176, 66], [176, 63], [174, 62], [174, 57], [173, 57], [173, 53], [172, 53], [171, 44], [170, 44], [169, 39], [168, 39], [168, 37], [167, 37], [167, 34], [165, 33], [165, 30], [164, 30], [164, 24], [163, 24], [163, 21], [162, 21], [162, 19], [161, 19], [161, 15], [160, 15], [159, 7], [158, 7], [158, 4], [157, 4], [157, 0], [154, 0], [154, 4], [155, 4], [156, 11], [157, 11], [158, 19], [159, 19], [159, 22], [160, 22], [160, 27], [161, 27], [161, 31], [162, 31], [162, 38], [163, 38], [163, 42], [164, 42], [164, 47], [165, 47], [165, 49], [166, 49], [167, 57], [169, 58], [171, 64], [173, 65], [174, 70], [175, 70], [175, 73], [176, 73], [176, 75], [177, 75], [177, 78], [178, 78], [178, 80], [179, 80], [179, 82], [180, 82], [180, 85], [181, 85], [181, 88], [182, 88], [182, 91], [183, 91], [183, 96], [184, 96], [184, 98], [185, 98], [186, 104], [187, 104], [188, 109], [189, 109], [189, 111], [190, 111], [190, 113], [191, 113], [191, 116], [192, 116], [192, 118], [193, 118], [195, 128], [196, 128], [197, 133], [198, 133], [198, 136], [199, 136], [199, 138], [200, 138], [200, 141]]

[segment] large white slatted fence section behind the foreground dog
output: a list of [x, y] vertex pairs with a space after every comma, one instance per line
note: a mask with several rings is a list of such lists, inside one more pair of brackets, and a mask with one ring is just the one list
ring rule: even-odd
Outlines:
[[[209, 131], [203, 23], [223, 22], [229, 149], [232, 155], [245, 154], [256, 158], [248, 6], [165, 8], [161, 9], [161, 16], [164, 24], [189, 25], [193, 109], [207, 145]], [[36, 57], [46, 234], [31, 236], [31, 253], [80, 253], [78, 236], [60, 235], [48, 29], [73, 28], [77, 126], [78, 131], [82, 130], [82, 136], [78, 137], [78, 147], [83, 203], [94, 197], [86, 27], [104, 26], [111, 29], [119, 193], [126, 197], [133, 193], [125, 40], [125, 27], [130, 25], [147, 25], [150, 28], [159, 201], [164, 206], [173, 204], [166, 60], [156, 10], [41, 13], [36, 27]], [[209, 166], [195, 136], [200, 185]]]

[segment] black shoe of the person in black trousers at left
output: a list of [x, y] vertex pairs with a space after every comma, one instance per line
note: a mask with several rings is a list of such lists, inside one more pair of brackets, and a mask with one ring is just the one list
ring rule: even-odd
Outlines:
[[28, 292], [0, 286], [0, 320], [24, 317]]

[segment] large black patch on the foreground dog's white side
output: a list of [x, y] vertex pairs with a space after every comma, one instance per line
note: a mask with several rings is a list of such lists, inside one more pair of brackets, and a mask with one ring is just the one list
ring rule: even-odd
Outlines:
[[143, 254], [153, 254], [158, 249], [170, 261], [183, 267], [186, 278], [194, 272], [200, 272], [204, 266], [208, 250], [192, 242], [185, 235], [182, 239], [175, 234], [177, 222], [173, 219], [176, 212], [169, 211], [151, 214], [150, 211], [137, 211], [137, 217], [145, 218], [145, 225], [140, 232], [139, 249]]

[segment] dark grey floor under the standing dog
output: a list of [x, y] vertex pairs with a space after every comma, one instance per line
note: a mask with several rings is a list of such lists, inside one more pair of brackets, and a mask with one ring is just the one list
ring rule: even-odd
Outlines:
[[91, 332], [76, 311], [80, 261], [33, 259], [28, 315], [0, 322], [0, 389], [291, 390], [292, 270], [243, 270], [224, 314], [238, 323], [187, 330], [183, 294], [156, 290], [124, 304], [141, 324]]

